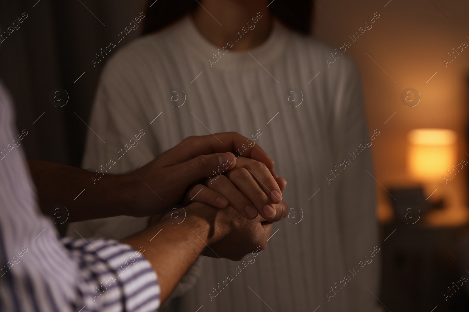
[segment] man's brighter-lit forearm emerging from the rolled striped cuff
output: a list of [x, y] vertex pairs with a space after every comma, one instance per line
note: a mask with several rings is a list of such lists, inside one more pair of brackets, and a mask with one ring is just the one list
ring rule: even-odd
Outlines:
[[[213, 208], [215, 210], [215, 208]], [[186, 212], [184, 212], [186, 211]], [[191, 213], [190, 208], [179, 212], [177, 220], [166, 219], [142, 232], [122, 240], [151, 263], [158, 275], [163, 302], [176, 287], [179, 280], [210, 244], [210, 222]], [[187, 214], [187, 215], [186, 215]], [[180, 219], [185, 219], [180, 224]]]

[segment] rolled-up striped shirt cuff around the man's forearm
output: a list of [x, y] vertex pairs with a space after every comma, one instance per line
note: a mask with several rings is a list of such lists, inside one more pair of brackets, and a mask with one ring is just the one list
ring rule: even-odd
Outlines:
[[113, 239], [64, 238], [82, 282], [79, 294], [89, 311], [157, 311], [158, 277], [142, 253]]

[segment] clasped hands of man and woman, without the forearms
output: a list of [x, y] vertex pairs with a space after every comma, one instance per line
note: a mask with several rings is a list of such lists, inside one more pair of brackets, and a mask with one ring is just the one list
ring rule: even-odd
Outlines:
[[240, 260], [258, 246], [265, 248], [272, 222], [287, 216], [281, 194], [286, 181], [274, 172], [269, 156], [249, 142], [254, 143], [236, 132], [184, 139], [135, 171], [148, 188], [134, 192], [140, 209], [133, 215], [155, 215], [149, 226], [158, 226], [169, 222], [166, 209], [179, 203], [188, 216], [210, 225], [210, 248], [203, 254]]

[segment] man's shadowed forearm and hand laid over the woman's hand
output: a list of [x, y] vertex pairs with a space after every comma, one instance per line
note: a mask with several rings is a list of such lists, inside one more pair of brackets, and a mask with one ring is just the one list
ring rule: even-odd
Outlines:
[[[264, 163], [275, 174], [273, 161], [262, 148], [236, 132], [186, 138], [144, 167], [128, 174], [104, 174], [98, 183], [94, 172], [41, 160], [28, 162], [41, 210], [48, 214], [54, 205], [65, 206], [68, 222], [75, 222], [163, 213], [179, 203], [194, 182], [233, 168], [232, 152], [240, 149], [243, 156]], [[213, 189], [197, 196], [194, 200], [214, 207], [228, 206], [227, 198]]]

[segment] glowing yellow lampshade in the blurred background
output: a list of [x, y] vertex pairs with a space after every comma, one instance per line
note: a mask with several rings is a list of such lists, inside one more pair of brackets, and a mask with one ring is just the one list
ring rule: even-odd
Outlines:
[[456, 133], [448, 129], [414, 129], [408, 133], [407, 167], [417, 181], [440, 181], [456, 158]]

